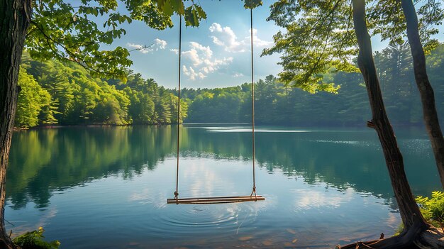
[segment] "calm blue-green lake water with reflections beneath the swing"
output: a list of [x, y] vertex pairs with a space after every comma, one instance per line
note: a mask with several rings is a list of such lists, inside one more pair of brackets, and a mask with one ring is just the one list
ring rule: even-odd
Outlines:
[[[6, 224], [43, 226], [61, 248], [332, 248], [391, 235], [400, 218], [368, 128], [258, 127], [257, 192], [265, 201], [167, 205], [177, 126], [14, 133]], [[422, 129], [398, 131], [414, 194], [438, 189]], [[180, 197], [250, 194], [250, 129], [182, 126]]]

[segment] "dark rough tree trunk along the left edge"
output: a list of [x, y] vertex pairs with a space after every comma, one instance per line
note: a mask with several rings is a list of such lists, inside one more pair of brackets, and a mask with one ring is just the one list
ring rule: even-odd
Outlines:
[[31, 0], [0, 1], [0, 248], [13, 248], [4, 226], [6, 166], [17, 107], [18, 70]]

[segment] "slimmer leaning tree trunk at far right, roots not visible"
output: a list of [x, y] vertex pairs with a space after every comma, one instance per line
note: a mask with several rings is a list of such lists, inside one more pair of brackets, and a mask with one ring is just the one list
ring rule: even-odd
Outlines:
[[416, 86], [418, 86], [423, 104], [424, 123], [432, 144], [441, 185], [444, 188], [444, 138], [436, 113], [435, 94], [433, 94], [433, 88], [427, 76], [426, 56], [419, 38], [418, 16], [416, 16], [415, 6], [411, 0], [401, 0], [401, 6], [404, 16], [406, 16], [407, 38], [409, 38], [411, 55], [414, 60]]

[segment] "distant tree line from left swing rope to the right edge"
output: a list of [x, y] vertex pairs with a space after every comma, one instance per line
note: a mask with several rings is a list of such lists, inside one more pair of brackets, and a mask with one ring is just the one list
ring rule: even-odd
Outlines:
[[[374, 55], [387, 113], [392, 123], [423, 123], [409, 45], [389, 45]], [[438, 115], [444, 120], [444, 45], [427, 57]], [[340, 84], [337, 94], [309, 94], [285, 86], [272, 75], [255, 84], [255, 121], [297, 126], [353, 126], [371, 118], [368, 97], [359, 73], [331, 72], [324, 79]], [[216, 89], [184, 89], [189, 101], [187, 122], [250, 122], [250, 84]]]

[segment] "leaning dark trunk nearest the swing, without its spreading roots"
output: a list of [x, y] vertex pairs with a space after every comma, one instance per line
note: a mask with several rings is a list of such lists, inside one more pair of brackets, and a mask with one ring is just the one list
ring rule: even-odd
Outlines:
[[414, 224], [423, 224], [423, 227], [426, 228], [428, 224], [424, 221], [411, 193], [409, 182], [404, 172], [401, 151], [399, 151], [392, 125], [389, 123], [384, 102], [382, 101], [379, 79], [373, 61], [372, 43], [365, 18], [365, 0], [353, 0], [353, 22], [359, 45], [357, 64], [364, 77], [365, 87], [367, 88], [372, 108], [372, 121], [369, 121], [368, 125], [377, 131], [379, 141], [381, 142], [404, 228], [409, 229]]

